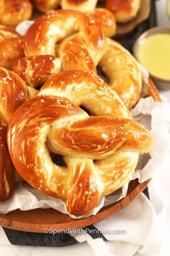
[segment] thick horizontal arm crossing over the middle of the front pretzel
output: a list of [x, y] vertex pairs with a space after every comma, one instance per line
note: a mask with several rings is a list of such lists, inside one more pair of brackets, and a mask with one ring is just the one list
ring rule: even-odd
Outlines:
[[110, 116], [91, 116], [62, 125], [55, 123], [47, 138], [48, 148], [56, 154], [85, 154], [93, 159], [104, 159], [127, 150], [145, 154], [153, 145], [144, 126], [130, 119]]

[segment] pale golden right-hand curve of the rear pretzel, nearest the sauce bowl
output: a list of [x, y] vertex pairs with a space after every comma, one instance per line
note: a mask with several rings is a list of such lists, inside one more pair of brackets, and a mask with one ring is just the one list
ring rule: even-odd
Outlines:
[[135, 106], [142, 90], [142, 74], [132, 54], [115, 40], [107, 38], [99, 67], [108, 76], [111, 88], [116, 90], [127, 107]]

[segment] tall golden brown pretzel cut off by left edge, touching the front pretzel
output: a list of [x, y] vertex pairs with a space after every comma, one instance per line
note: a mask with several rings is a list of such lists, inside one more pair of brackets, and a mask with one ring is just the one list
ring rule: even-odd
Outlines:
[[0, 68], [0, 200], [8, 199], [14, 190], [14, 166], [6, 143], [7, 126], [14, 111], [32, 97], [32, 92], [18, 75]]

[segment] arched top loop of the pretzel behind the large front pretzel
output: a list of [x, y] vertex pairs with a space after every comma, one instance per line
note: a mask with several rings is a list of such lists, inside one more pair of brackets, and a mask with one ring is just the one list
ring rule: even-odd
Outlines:
[[91, 24], [88, 16], [74, 10], [52, 10], [40, 16], [26, 32], [25, 55], [55, 56], [55, 45], [75, 33], [84, 40], [96, 65], [104, 51], [105, 35], [101, 28]]

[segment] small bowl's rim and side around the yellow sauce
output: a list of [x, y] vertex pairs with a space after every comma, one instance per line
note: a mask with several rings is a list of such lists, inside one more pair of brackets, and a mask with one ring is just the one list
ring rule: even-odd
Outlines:
[[[135, 40], [133, 44], [133, 56], [137, 59], [137, 61], [139, 61], [140, 64], [142, 64], [139, 59], [140, 46], [144, 43], [147, 37], [150, 37], [150, 35], [155, 35], [155, 34], [170, 34], [170, 26], [160, 26], [160, 27], [150, 28], [149, 30], [146, 30], [142, 35], [140, 35], [137, 38], [137, 40]], [[161, 63], [160, 63], [160, 66], [161, 66]], [[169, 66], [169, 73], [170, 73], [170, 66]], [[158, 77], [151, 73], [149, 73], [149, 75], [150, 75], [150, 78], [152, 78], [153, 82], [156, 84], [157, 88], [163, 89], [163, 90], [167, 90], [170, 88], [170, 80], [166, 80], [164, 78]]]

